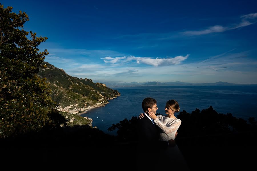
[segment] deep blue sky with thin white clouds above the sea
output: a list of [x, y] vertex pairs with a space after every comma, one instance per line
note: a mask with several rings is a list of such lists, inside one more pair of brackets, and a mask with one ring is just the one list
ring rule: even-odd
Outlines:
[[2, 0], [45, 61], [94, 82], [257, 84], [257, 1]]

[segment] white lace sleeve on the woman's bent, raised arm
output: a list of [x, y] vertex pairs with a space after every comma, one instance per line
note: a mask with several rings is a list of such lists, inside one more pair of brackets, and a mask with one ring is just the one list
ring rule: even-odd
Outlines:
[[168, 134], [168, 133], [172, 133], [172, 132], [176, 131], [179, 128], [179, 126], [181, 125], [181, 120], [175, 119], [174, 121], [168, 121], [168, 123], [166, 125], [164, 125], [157, 117], [154, 119], [154, 123], [158, 127], [160, 127], [160, 129], [162, 129], [162, 131], [165, 134]]

